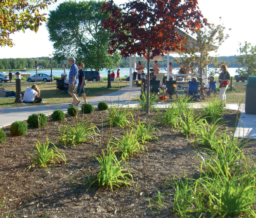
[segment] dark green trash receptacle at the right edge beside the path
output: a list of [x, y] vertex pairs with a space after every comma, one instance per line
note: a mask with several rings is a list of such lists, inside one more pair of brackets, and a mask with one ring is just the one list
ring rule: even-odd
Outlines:
[[245, 90], [245, 113], [256, 114], [256, 76], [249, 76]]

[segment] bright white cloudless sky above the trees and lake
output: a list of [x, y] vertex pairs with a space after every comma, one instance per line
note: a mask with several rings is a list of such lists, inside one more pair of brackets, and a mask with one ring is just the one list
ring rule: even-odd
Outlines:
[[[128, 0], [114, 0], [116, 4], [122, 4]], [[198, 7], [208, 23], [215, 25], [223, 24], [229, 38], [219, 47], [218, 56], [239, 55], [239, 43], [244, 44], [245, 41], [256, 45], [255, 34], [252, 33], [255, 22], [256, 0], [197, 0]], [[44, 10], [49, 13], [50, 10], [64, 2], [57, 0], [55, 4]], [[222, 17], [221, 21], [219, 17]], [[231, 28], [230, 31], [228, 29]], [[37, 33], [30, 30], [15, 32], [10, 35], [15, 46], [0, 47], [0, 59], [2, 58], [30, 58], [30, 57], [48, 57], [54, 52], [53, 43], [49, 41], [49, 34], [45, 23], [39, 27]], [[214, 53], [210, 53], [214, 55]]]

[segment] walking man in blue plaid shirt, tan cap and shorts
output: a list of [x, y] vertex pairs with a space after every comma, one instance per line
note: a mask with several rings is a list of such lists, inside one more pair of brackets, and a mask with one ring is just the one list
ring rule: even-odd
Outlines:
[[71, 65], [71, 68], [69, 70], [69, 89], [68, 93], [72, 96], [73, 102], [69, 104], [70, 106], [73, 105], [79, 105], [80, 101], [78, 100], [76, 96], [77, 86], [78, 86], [78, 68], [77, 65], [75, 65], [75, 58], [70, 57], [68, 60], [69, 65]]

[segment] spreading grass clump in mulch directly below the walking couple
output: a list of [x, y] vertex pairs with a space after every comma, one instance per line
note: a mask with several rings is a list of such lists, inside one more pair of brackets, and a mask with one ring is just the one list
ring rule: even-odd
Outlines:
[[72, 142], [72, 145], [75, 147], [75, 144], [82, 142], [87, 142], [88, 140], [94, 141], [93, 135], [99, 135], [96, 131], [99, 132], [99, 129], [94, 125], [88, 125], [89, 121], [82, 121], [75, 123], [75, 126], [60, 125], [60, 140], [61, 143], [67, 145], [68, 142]]

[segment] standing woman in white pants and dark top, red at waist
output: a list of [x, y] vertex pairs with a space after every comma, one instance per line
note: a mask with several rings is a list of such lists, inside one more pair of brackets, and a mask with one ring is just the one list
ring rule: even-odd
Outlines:
[[228, 81], [230, 81], [230, 75], [227, 72], [227, 66], [221, 65], [219, 74], [219, 100], [223, 101], [223, 105], [226, 106], [226, 90], [228, 87]]

